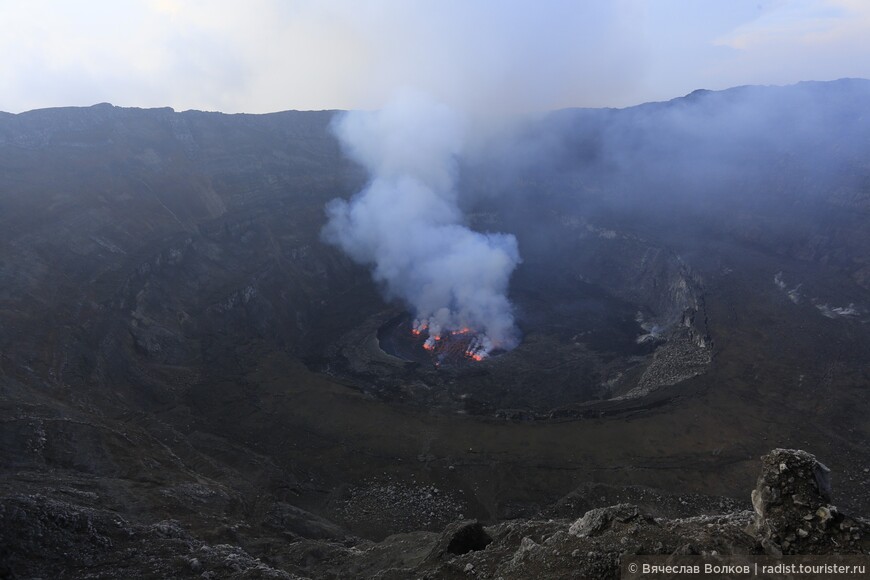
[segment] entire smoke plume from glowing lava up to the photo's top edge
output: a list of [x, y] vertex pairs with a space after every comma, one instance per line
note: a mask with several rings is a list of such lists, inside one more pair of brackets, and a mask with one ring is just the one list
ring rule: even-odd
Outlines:
[[[371, 180], [349, 202], [328, 205], [324, 239], [371, 266], [388, 298], [404, 300], [418, 318], [415, 330], [427, 329], [432, 341], [468, 328], [468, 356], [511, 349], [519, 341], [507, 299], [520, 262], [517, 240], [467, 227], [457, 164], [491, 155], [517, 117], [586, 95], [583, 79], [600, 77], [596, 71], [608, 71], [597, 83], [608, 85], [605, 92], [634, 83], [628, 55], [638, 35], [624, 25], [634, 20], [623, 19], [626, 8], [615, 3], [569, 0], [544, 7], [386, 0], [346, 8], [341, 13], [352, 15], [350, 28], [378, 63], [366, 82], [355, 83], [373, 91], [364, 102], [380, 105], [396, 87], [421, 93], [400, 91], [377, 112], [337, 118], [335, 134]], [[604, 45], [613, 48], [606, 64], [589, 56]]]

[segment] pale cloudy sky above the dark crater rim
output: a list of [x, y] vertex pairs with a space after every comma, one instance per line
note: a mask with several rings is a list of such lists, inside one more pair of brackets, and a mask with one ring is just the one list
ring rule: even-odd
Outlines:
[[0, 110], [623, 107], [870, 78], [865, 0], [0, 0]]

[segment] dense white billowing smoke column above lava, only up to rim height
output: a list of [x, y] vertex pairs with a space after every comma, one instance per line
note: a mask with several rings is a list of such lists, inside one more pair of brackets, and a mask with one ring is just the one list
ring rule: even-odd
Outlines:
[[401, 298], [430, 336], [470, 328], [487, 354], [518, 342], [506, 293], [520, 262], [516, 238], [480, 233], [457, 206], [463, 123], [449, 107], [405, 92], [376, 112], [339, 116], [333, 130], [371, 176], [349, 202], [327, 205], [326, 241], [372, 266], [388, 298]]

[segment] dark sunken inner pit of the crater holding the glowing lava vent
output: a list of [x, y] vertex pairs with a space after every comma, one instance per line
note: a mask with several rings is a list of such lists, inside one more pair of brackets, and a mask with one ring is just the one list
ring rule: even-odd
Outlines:
[[[316, 370], [386, 401], [538, 419], [643, 405], [661, 387], [704, 372], [711, 341], [703, 289], [679, 256], [577, 224], [554, 220], [560, 251], [525, 244], [511, 282], [516, 348], [476, 360], [469, 330], [445, 333], [428, 349], [428, 333], [415, 332], [414, 316], [395, 304], [338, 340]], [[597, 267], [602, 259], [608, 268]]]

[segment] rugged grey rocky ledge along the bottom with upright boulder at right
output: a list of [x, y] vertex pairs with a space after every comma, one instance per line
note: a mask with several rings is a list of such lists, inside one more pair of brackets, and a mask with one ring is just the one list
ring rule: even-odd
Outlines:
[[762, 458], [755, 512], [654, 518], [619, 504], [574, 520], [489, 527], [464, 520], [441, 534], [380, 542], [342, 536], [337, 526], [289, 506], [279, 506], [283, 520], [308, 522], [294, 524], [293, 534], [269, 536], [273, 514], [259, 531], [237, 525], [208, 539], [174, 520], [133, 523], [68, 501], [7, 496], [0, 501], [0, 576], [617, 578], [628, 555], [870, 554], [870, 522], [840, 513], [831, 497], [828, 469], [809, 453], [785, 449]]

